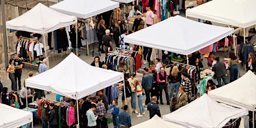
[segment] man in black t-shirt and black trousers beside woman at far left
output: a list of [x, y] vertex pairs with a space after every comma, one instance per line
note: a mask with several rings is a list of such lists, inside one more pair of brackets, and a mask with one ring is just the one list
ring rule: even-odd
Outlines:
[[23, 63], [21, 60], [19, 60], [19, 56], [15, 55], [14, 59], [14, 75], [15, 75], [15, 81], [16, 81], [16, 88], [17, 88], [17, 78], [18, 78], [18, 87], [19, 90], [21, 90], [21, 74], [22, 74], [22, 67]]

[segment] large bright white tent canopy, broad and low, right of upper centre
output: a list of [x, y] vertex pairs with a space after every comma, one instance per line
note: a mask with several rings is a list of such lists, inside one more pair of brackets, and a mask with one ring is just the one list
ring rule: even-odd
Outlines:
[[127, 35], [124, 41], [189, 55], [232, 33], [234, 33], [233, 28], [212, 26], [175, 16]]

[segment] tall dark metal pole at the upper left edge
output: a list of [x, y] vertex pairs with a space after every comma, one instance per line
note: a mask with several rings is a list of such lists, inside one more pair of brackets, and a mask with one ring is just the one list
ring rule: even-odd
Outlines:
[[[3, 29], [6, 30], [6, 12], [4, 10], [4, 5], [5, 5], [5, 1], [1, 0], [1, 4], [2, 4], [2, 23], [3, 23]], [[5, 67], [8, 66], [8, 45], [7, 45], [7, 32], [3, 31], [3, 46], [4, 46], [4, 63], [5, 63]], [[6, 48], [7, 47], [7, 48]]]

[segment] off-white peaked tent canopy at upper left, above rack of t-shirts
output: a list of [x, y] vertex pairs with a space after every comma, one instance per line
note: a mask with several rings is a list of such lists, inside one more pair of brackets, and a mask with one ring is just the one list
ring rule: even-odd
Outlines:
[[6, 22], [6, 28], [45, 34], [77, 22], [75, 16], [68, 16], [38, 3], [21, 16]]

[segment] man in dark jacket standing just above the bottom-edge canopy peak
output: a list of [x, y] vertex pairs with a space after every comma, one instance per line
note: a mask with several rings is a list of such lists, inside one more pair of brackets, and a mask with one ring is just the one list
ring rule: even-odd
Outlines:
[[159, 106], [156, 104], [157, 98], [156, 96], [152, 97], [152, 102], [147, 104], [147, 110], [149, 110], [149, 119], [153, 116], [157, 115], [161, 117]]

